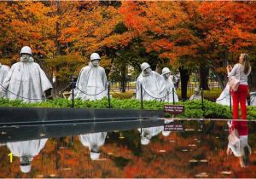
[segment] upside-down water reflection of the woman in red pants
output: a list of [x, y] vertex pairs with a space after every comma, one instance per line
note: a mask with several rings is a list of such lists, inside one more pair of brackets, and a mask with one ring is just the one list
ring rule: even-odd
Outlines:
[[241, 167], [249, 165], [249, 156], [252, 153], [252, 149], [248, 144], [248, 124], [247, 121], [232, 121], [228, 123], [230, 132], [236, 129], [239, 134], [239, 141], [236, 144], [231, 144], [229, 141], [227, 154], [232, 153], [239, 158]]

